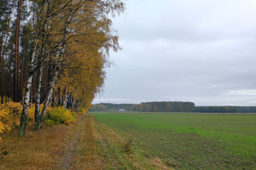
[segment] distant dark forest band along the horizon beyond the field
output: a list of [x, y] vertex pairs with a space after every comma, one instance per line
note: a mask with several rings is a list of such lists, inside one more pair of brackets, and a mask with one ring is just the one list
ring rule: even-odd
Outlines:
[[141, 104], [102, 103], [91, 105], [89, 111], [255, 113], [256, 106], [195, 106], [193, 102], [160, 101]]

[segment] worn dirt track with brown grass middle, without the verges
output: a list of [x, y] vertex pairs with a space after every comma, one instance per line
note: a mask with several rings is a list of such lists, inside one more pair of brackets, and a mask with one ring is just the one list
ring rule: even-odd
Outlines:
[[77, 132], [58, 164], [58, 169], [102, 169], [92, 127], [93, 116], [85, 115]]

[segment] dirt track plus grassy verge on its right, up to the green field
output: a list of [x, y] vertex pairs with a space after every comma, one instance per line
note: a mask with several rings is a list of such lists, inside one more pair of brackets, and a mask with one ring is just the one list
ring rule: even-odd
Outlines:
[[146, 158], [132, 145], [131, 150], [125, 151], [128, 140], [96, 122], [92, 115], [85, 115], [73, 134], [57, 169], [168, 169], [161, 161], [156, 164]]

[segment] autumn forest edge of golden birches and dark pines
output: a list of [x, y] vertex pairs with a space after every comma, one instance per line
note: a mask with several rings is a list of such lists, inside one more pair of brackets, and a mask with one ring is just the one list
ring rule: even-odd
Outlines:
[[124, 8], [120, 0], [0, 0], [0, 95], [23, 104], [19, 136], [30, 102], [35, 130], [49, 105], [89, 109], [109, 51], [119, 50], [111, 18]]

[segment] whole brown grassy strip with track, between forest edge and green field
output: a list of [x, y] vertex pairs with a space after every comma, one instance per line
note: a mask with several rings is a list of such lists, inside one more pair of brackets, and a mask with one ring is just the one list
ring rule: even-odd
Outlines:
[[128, 141], [96, 122], [95, 116], [84, 115], [70, 126], [39, 132], [31, 127], [22, 138], [16, 132], [9, 134], [0, 144], [0, 169], [168, 169], [159, 158], [147, 158]]

